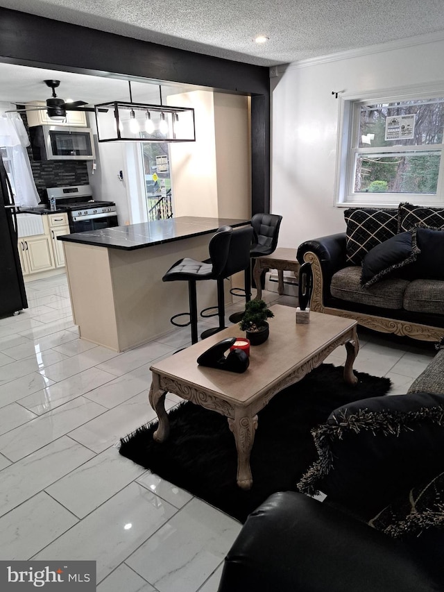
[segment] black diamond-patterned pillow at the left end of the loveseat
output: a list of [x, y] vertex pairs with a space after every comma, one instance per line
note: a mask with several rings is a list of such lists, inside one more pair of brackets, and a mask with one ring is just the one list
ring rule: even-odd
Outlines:
[[398, 231], [398, 210], [350, 208], [344, 212], [348, 264], [361, 265], [374, 246]]

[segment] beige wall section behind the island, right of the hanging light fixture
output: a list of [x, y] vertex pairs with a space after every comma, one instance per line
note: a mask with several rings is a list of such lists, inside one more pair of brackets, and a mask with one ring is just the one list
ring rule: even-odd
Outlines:
[[248, 97], [195, 91], [168, 102], [193, 107], [196, 119], [196, 142], [170, 147], [175, 217], [250, 218]]

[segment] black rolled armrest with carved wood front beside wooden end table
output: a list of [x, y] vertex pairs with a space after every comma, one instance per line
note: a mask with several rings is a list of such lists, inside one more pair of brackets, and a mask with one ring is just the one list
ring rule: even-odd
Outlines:
[[302, 265], [307, 260], [310, 260], [311, 255], [305, 258], [306, 253], [313, 253], [318, 259], [319, 269], [321, 271], [321, 278], [314, 277], [314, 282], [320, 282], [322, 287], [314, 286], [314, 292], [317, 291], [316, 298], [321, 298], [323, 305], [327, 305], [330, 298], [330, 284], [332, 277], [336, 271], [342, 269], [347, 264], [345, 232], [339, 232], [336, 235], [328, 235], [326, 237], [319, 237], [305, 241], [298, 246], [296, 257], [298, 262]]

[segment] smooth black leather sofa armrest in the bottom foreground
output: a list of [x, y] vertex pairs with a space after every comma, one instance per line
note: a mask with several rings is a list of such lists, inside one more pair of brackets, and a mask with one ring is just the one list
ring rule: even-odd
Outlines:
[[293, 491], [274, 493], [225, 557], [219, 592], [437, 592], [400, 541]]

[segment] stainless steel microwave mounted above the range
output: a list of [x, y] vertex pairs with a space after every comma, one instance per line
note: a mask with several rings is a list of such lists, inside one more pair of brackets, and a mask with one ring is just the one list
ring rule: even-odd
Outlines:
[[29, 128], [34, 160], [94, 160], [94, 139], [89, 128], [33, 126]]

